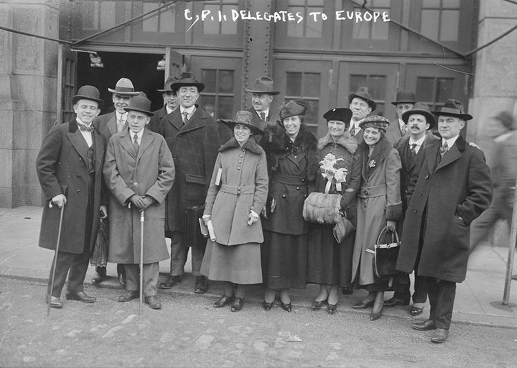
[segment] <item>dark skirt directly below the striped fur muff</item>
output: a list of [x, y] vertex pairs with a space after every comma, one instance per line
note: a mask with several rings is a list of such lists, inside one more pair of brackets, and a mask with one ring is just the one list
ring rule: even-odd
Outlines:
[[307, 283], [352, 286], [355, 232], [337, 243], [333, 226], [311, 224], [308, 241]]

